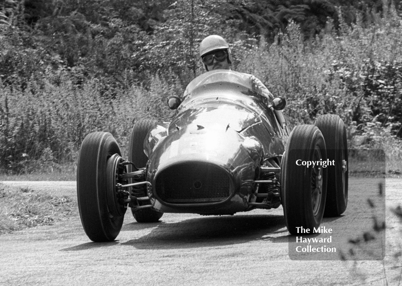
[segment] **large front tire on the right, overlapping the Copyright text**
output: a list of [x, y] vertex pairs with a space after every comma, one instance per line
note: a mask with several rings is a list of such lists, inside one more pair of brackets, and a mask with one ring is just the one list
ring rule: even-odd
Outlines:
[[298, 164], [327, 160], [324, 137], [318, 127], [296, 126], [290, 133], [282, 159], [281, 200], [291, 234], [298, 233], [296, 227], [303, 226], [313, 233], [313, 228], [320, 226], [327, 192], [326, 168], [298, 166], [299, 159]]

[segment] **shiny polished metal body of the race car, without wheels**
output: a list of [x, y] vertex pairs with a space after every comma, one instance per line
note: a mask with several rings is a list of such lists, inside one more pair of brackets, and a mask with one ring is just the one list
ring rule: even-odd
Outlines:
[[144, 143], [154, 209], [233, 214], [258, 207], [259, 185], [279, 177], [289, 135], [270, 100], [246, 74], [216, 70], [194, 79], [172, 122], [156, 125]]

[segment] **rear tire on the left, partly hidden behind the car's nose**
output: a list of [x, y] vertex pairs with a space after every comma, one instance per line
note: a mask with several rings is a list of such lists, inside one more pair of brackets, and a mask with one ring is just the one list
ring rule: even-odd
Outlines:
[[[155, 124], [155, 120], [139, 120], [134, 124], [130, 137], [129, 161], [133, 162], [137, 168], [144, 168], [147, 164], [148, 157], [144, 153], [144, 141], [149, 130], [151, 130]], [[131, 165], [129, 165], [129, 172], [132, 172]], [[157, 222], [163, 215], [163, 212], [156, 211], [152, 208], [137, 211], [131, 208], [131, 212], [137, 222]]]

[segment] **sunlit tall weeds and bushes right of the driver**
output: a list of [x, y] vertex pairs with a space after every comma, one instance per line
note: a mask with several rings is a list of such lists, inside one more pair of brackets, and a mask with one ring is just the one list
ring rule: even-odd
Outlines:
[[359, 22], [341, 28], [338, 33], [328, 23], [320, 37], [306, 42], [291, 23], [272, 45], [249, 53], [238, 71], [256, 75], [287, 99], [291, 127], [338, 114], [351, 148], [384, 149], [394, 163], [402, 154], [395, 136], [402, 133], [402, 20], [389, 13], [368, 28]]

